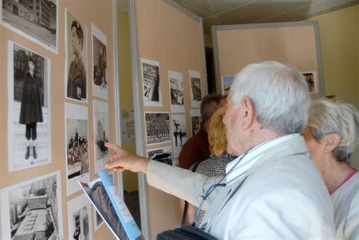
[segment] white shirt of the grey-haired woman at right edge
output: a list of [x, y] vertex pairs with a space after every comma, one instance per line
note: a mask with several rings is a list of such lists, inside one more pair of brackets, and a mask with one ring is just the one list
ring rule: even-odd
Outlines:
[[359, 173], [331, 193], [338, 239], [359, 239]]

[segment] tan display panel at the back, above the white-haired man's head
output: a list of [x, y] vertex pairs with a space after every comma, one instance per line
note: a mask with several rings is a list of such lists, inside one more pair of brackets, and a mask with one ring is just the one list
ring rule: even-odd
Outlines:
[[213, 26], [212, 37], [218, 90], [223, 76], [235, 76], [247, 64], [274, 60], [302, 73], [314, 72], [312, 97], [324, 95], [316, 22]]

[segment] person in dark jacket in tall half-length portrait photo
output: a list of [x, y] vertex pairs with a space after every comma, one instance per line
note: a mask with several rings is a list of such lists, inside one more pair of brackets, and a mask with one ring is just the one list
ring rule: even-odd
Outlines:
[[67, 97], [86, 100], [86, 68], [81, 54], [85, 40], [83, 28], [77, 20], [72, 21], [71, 32], [68, 34], [71, 36], [73, 60], [68, 71]]

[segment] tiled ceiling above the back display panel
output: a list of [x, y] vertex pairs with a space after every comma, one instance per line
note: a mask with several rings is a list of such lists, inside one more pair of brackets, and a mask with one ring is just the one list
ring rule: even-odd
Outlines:
[[[158, 1], [158, 0], [137, 0]], [[359, 0], [175, 0], [203, 18], [204, 33], [211, 25], [276, 23], [296, 21], [339, 8], [359, 4]], [[126, 0], [119, 0], [126, 11]]]

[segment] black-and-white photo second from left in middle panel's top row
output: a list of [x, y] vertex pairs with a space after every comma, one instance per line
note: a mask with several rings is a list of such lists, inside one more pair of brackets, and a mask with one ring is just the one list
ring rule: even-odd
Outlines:
[[184, 91], [182, 73], [168, 70], [170, 80], [171, 112], [184, 113]]

